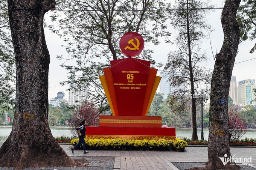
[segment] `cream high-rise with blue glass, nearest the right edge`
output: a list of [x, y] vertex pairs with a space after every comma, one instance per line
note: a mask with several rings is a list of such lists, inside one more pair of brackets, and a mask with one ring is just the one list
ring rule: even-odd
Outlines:
[[245, 106], [251, 104], [251, 101], [256, 98], [253, 89], [256, 88], [255, 80], [247, 79], [238, 82], [238, 104]]

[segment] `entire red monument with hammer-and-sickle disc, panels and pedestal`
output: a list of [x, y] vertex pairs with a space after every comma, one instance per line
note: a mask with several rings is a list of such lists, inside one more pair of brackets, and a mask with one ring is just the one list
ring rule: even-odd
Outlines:
[[175, 128], [162, 127], [161, 116], [146, 116], [161, 77], [149, 61], [133, 58], [143, 47], [143, 38], [136, 32], [120, 39], [120, 49], [128, 58], [110, 61], [99, 77], [113, 116], [100, 116], [99, 126], [87, 126], [88, 139], [175, 140]]

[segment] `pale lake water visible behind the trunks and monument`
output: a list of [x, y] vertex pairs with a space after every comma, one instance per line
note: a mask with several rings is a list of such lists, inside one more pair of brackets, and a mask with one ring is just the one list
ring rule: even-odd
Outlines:
[[[67, 127], [54, 127], [50, 128], [54, 137], [66, 135], [71, 137], [72, 134]], [[11, 126], [0, 126], [0, 141], [5, 141], [10, 135], [12, 130]], [[197, 129], [198, 138], [201, 138], [201, 129]], [[204, 129], [204, 139], [208, 139], [209, 130]], [[176, 129], [176, 137], [192, 138], [192, 129]], [[246, 134], [242, 138], [256, 138], [256, 129], [247, 129]]]

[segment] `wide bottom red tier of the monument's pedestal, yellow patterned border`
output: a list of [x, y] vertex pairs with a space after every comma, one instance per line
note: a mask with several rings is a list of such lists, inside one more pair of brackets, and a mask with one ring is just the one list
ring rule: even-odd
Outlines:
[[118, 127], [86, 126], [87, 139], [126, 139], [126, 140], [173, 140], [176, 139], [175, 128], [171, 127]]

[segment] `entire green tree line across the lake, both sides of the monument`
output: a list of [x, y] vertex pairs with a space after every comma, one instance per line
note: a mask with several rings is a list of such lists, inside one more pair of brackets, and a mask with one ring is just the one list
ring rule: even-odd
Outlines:
[[[164, 99], [163, 93], [156, 93], [149, 109], [148, 116], [162, 116], [162, 125], [167, 125], [175, 128], [191, 128], [192, 127], [192, 110], [187, 106], [187, 111], [177, 113], [176, 105], [171, 106], [168, 98]], [[239, 117], [244, 120], [244, 125], [247, 128], [256, 128], [256, 105], [246, 105], [238, 107], [233, 104], [233, 99], [229, 97], [229, 108], [236, 110]], [[50, 126], [70, 125], [72, 115], [78, 113], [79, 107], [69, 107], [67, 101], [61, 101], [59, 106], [49, 105], [48, 123]], [[201, 104], [197, 102], [197, 128], [201, 128]], [[97, 112], [99, 115], [99, 113]], [[86, 114], [84, 114], [86, 116]], [[14, 110], [8, 111], [8, 117], [14, 118]], [[90, 119], [89, 116], [87, 119]], [[0, 115], [0, 123], [5, 119], [5, 114]], [[88, 120], [87, 120], [88, 121]], [[203, 107], [203, 127], [209, 128], [209, 107]]]

